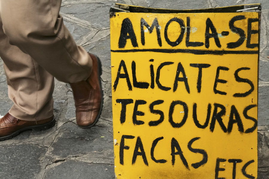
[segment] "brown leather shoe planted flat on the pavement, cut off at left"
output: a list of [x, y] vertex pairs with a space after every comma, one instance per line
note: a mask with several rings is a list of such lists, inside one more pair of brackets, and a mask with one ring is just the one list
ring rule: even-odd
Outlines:
[[0, 141], [15, 137], [20, 132], [32, 129], [33, 131], [46, 130], [55, 125], [54, 115], [41, 121], [23, 121], [7, 113], [0, 119]]

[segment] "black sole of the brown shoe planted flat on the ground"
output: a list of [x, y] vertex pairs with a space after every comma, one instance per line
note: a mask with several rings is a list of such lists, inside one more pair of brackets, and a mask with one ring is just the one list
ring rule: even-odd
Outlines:
[[46, 124], [41, 124], [41, 125], [36, 125], [36, 126], [27, 126], [25, 128], [22, 128], [22, 129], [19, 129], [19, 130], [13, 132], [10, 135], [0, 137], [0, 141], [11, 139], [11, 138], [15, 137], [16, 135], [19, 135], [20, 132], [25, 131], [25, 130], [30, 130], [30, 129], [32, 129], [33, 131], [46, 130], [46, 129], [49, 129], [49, 128], [53, 127], [55, 125], [55, 123], [56, 123], [55, 119], [53, 118], [53, 120], [51, 120], [50, 122], [48, 122]]

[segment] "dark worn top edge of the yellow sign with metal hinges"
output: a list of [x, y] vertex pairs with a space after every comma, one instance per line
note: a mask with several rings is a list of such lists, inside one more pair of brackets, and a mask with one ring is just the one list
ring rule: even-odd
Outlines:
[[110, 8], [110, 13], [115, 12], [131, 12], [131, 13], [234, 13], [244, 12], [245, 10], [261, 10], [261, 4], [243, 4], [227, 7], [216, 7], [210, 9], [189, 9], [189, 10], [175, 10], [175, 9], [157, 9], [151, 7], [140, 7], [127, 4], [115, 4]]

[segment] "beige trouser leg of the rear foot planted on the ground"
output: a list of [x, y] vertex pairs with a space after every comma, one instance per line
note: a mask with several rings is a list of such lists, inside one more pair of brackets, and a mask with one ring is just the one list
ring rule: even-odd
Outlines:
[[30, 55], [10, 45], [0, 18], [0, 56], [7, 76], [8, 96], [14, 105], [9, 113], [25, 121], [42, 120], [53, 115], [54, 77]]

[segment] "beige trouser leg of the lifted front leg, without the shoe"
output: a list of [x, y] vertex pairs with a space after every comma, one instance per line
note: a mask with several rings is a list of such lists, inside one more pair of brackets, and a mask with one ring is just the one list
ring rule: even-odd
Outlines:
[[59, 81], [86, 80], [92, 70], [88, 53], [77, 46], [59, 16], [61, 0], [0, 0], [4, 33], [10, 44], [29, 54]]

